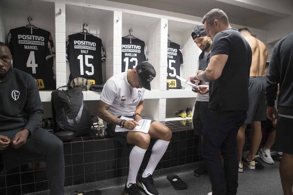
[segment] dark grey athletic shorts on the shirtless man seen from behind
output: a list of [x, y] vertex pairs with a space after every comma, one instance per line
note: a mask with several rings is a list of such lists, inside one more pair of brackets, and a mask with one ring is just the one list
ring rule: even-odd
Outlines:
[[248, 83], [248, 111], [245, 123], [267, 119], [266, 77], [250, 77]]

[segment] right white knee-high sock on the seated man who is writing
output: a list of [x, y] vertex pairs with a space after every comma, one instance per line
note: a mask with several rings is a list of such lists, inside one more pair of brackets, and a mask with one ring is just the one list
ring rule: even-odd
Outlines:
[[147, 167], [145, 168], [144, 173], [142, 174], [142, 177], [146, 178], [148, 177], [148, 174], [152, 175], [154, 173], [154, 170], [157, 167], [163, 155], [165, 154], [169, 143], [170, 142], [160, 140], [160, 139], [158, 139], [155, 142], [152, 148], [151, 157], [149, 158], [149, 163]]

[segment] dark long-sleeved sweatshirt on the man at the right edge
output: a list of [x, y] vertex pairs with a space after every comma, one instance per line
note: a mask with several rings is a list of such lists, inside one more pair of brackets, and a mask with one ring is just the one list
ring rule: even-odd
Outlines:
[[293, 32], [278, 41], [267, 70], [267, 105], [274, 106], [278, 83], [278, 113], [293, 116]]

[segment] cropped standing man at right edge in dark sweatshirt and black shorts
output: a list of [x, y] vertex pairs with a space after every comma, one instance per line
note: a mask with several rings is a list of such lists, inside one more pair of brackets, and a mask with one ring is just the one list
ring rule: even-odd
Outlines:
[[[266, 99], [267, 118], [277, 121], [276, 151], [283, 152], [280, 162], [280, 176], [284, 195], [292, 194], [293, 186], [293, 32], [277, 42], [272, 51], [272, 57], [267, 71]], [[278, 96], [278, 113], [275, 108], [276, 94], [280, 83]], [[274, 118], [274, 116], [276, 118]]]

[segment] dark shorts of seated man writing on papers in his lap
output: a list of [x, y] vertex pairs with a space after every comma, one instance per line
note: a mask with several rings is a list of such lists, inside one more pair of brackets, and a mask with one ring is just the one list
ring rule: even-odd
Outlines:
[[[118, 118], [120, 118], [121, 116], [119, 116]], [[128, 118], [133, 118], [133, 116], [126, 116]], [[142, 119], [148, 119], [151, 120], [151, 124], [156, 122], [156, 120], [152, 119], [152, 118], [148, 118], [145, 116], [141, 117]], [[118, 140], [121, 144], [123, 144], [124, 146], [129, 147], [130, 144], [127, 144], [127, 134], [129, 131], [125, 131], [125, 132], [115, 132], [115, 128], [116, 125], [111, 124], [111, 123], [107, 123], [107, 128], [105, 129], [105, 131], [107, 132], [108, 135], [110, 135], [111, 137], [114, 137], [116, 140]]]

